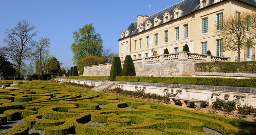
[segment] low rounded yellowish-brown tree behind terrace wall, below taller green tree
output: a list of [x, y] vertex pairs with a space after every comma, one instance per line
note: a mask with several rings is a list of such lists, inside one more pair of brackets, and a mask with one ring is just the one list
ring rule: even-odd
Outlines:
[[77, 62], [77, 66], [79, 67], [78, 70], [80, 73], [84, 72], [84, 67], [103, 64], [105, 59], [103, 57], [97, 57], [93, 55], [88, 55], [83, 57], [81, 60]]

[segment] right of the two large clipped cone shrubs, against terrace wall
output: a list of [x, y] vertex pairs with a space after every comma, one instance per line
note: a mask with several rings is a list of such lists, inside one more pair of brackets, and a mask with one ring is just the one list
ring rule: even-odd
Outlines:
[[133, 59], [131, 55], [126, 55], [124, 59], [122, 76], [136, 76]]

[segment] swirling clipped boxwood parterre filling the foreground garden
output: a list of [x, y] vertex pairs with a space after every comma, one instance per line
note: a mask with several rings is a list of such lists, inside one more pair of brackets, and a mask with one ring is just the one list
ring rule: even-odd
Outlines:
[[256, 134], [253, 122], [47, 81], [15, 87], [21, 90], [0, 91], [0, 124], [20, 118], [24, 123], [0, 135], [28, 135], [29, 128], [45, 135], [213, 135], [203, 127], [224, 135]]

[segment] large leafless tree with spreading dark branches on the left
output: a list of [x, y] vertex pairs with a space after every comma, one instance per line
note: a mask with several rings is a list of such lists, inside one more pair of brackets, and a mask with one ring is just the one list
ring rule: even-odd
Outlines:
[[36, 27], [28, 21], [23, 20], [17, 23], [13, 29], [7, 29], [7, 37], [3, 39], [6, 46], [1, 47], [0, 51], [5, 54], [7, 59], [12, 60], [17, 68], [18, 78], [20, 77], [20, 67], [23, 60], [33, 56], [33, 48], [36, 42], [32, 40], [37, 35]]

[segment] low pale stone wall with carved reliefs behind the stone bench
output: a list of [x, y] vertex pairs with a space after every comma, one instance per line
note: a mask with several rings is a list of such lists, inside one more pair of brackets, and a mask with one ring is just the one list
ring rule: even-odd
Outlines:
[[159, 95], [173, 95], [175, 97], [206, 100], [209, 105], [221, 99], [225, 102], [235, 101], [237, 106], [252, 105], [256, 107], [256, 88], [252, 87], [223, 87], [223, 86], [201, 86], [201, 85], [181, 85], [181, 84], [159, 84], [116, 81], [116, 87], [140, 91], [146, 93], [156, 93]]

